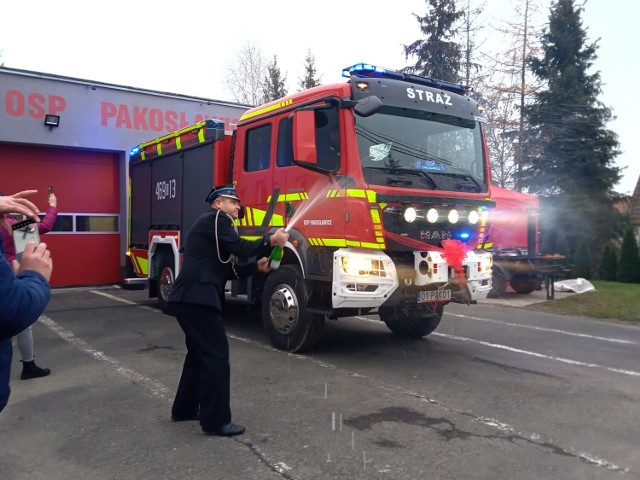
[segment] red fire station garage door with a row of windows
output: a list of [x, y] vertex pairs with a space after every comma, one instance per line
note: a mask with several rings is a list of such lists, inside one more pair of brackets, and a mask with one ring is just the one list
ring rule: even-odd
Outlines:
[[0, 143], [0, 191], [37, 189], [42, 213], [49, 185], [58, 198], [58, 219], [42, 237], [53, 256], [52, 286], [119, 281], [119, 178], [115, 153]]

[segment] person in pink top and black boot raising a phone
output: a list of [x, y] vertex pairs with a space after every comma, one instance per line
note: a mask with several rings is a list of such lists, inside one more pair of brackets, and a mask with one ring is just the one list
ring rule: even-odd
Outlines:
[[[2, 193], [0, 193], [2, 195]], [[53, 228], [53, 224], [58, 217], [58, 199], [53, 193], [53, 187], [49, 185], [49, 208], [45, 212], [44, 217], [38, 223], [34, 223], [37, 226], [40, 235], [49, 232]], [[9, 214], [3, 214], [8, 225], [13, 226], [17, 221]], [[0, 229], [2, 235], [2, 245], [5, 250], [5, 256], [9, 263], [17, 259], [16, 245], [13, 240], [13, 235], [6, 229]], [[18, 344], [18, 350], [20, 351], [20, 358], [22, 359], [22, 373], [20, 374], [21, 380], [30, 380], [33, 378], [46, 377], [51, 373], [49, 368], [41, 368], [36, 365], [34, 348], [33, 348], [33, 331], [31, 326], [28, 326], [25, 330], [16, 335], [16, 343]]]

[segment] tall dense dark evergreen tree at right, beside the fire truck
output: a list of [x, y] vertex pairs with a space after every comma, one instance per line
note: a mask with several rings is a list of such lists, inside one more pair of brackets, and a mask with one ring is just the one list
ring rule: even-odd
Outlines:
[[616, 134], [605, 128], [611, 111], [597, 98], [600, 73], [588, 73], [597, 44], [586, 43], [581, 13], [574, 0], [557, 0], [541, 37], [542, 56], [528, 60], [547, 88], [524, 107], [530, 134], [517, 183], [552, 200], [554, 228], [564, 230], [571, 250], [589, 238], [592, 254], [599, 254], [620, 231], [613, 208], [620, 152]]

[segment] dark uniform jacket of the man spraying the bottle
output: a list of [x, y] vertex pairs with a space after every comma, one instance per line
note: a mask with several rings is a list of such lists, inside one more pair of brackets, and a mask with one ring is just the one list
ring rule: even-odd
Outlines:
[[257, 271], [255, 260], [247, 263], [227, 260], [232, 255], [245, 260], [268, 256], [270, 237], [243, 240], [229, 215], [218, 210], [203, 213], [187, 236], [182, 269], [171, 289], [169, 302], [207, 305], [222, 311], [227, 280], [246, 277]]

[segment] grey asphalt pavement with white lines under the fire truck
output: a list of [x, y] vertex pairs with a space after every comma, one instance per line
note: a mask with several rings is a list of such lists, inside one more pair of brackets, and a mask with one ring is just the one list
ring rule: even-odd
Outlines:
[[229, 302], [234, 438], [171, 422], [184, 338], [146, 293], [54, 291], [52, 374], [21, 381], [14, 352], [2, 480], [640, 478], [640, 329], [513, 308], [544, 292], [448, 306], [420, 340], [328, 322], [304, 355]]

